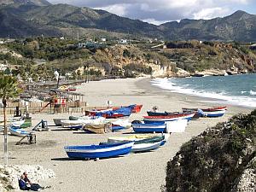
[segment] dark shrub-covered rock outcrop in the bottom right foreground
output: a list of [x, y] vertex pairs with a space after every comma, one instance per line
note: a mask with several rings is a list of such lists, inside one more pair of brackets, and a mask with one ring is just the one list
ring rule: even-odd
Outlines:
[[166, 191], [253, 191], [256, 110], [239, 114], [185, 143], [167, 163]]

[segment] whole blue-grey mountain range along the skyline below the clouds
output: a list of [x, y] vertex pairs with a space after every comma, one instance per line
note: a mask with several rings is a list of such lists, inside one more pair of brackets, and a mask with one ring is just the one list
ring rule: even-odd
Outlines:
[[[45, 0], [0, 0], [1, 37], [25, 38], [41, 34], [51, 36], [87, 34], [102, 30], [132, 37], [161, 38], [165, 40], [222, 40], [255, 41], [256, 15], [237, 11], [233, 15], [212, 20], [181, 20], [155, 26], [141, 20], [113, 15], [104, 10], [79, 8], [68, 4], [50, 4]], [[26, 27], [17, 29], [10, 17], [18, 18]], [[4, 26], [4, 27], [3, 27]], [[3, 28], [2, 28], [3, 27]], [[32, 27], [31, 32], [26, 29]], [[23, 32], [25, 28], [25, 32]], [[94, 29], [94, 30], [92, 30]], [[19, 32], [17, 32], [17, 30]]]

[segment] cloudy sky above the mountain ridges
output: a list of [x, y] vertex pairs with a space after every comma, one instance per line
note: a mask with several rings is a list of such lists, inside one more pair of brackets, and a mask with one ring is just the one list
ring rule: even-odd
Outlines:
[[224, 17], [236, 10], [256, 15], [256, 0], [48, 0], [110, 13], [160, 25], [182, 19]]

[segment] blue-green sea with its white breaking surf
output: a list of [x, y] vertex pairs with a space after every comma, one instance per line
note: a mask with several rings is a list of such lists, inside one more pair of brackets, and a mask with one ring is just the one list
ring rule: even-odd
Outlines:
[[183, 79], [154, 79], [164, 90], [217, 99], [224, 104], [256, 108], [256, 74], [207, 76]]

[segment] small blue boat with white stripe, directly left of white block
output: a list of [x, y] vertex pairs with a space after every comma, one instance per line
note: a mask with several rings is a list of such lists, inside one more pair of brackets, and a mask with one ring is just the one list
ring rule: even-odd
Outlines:
[[166, 124], [150, 123], [131, 123], [134, 132], [166, 132]]

